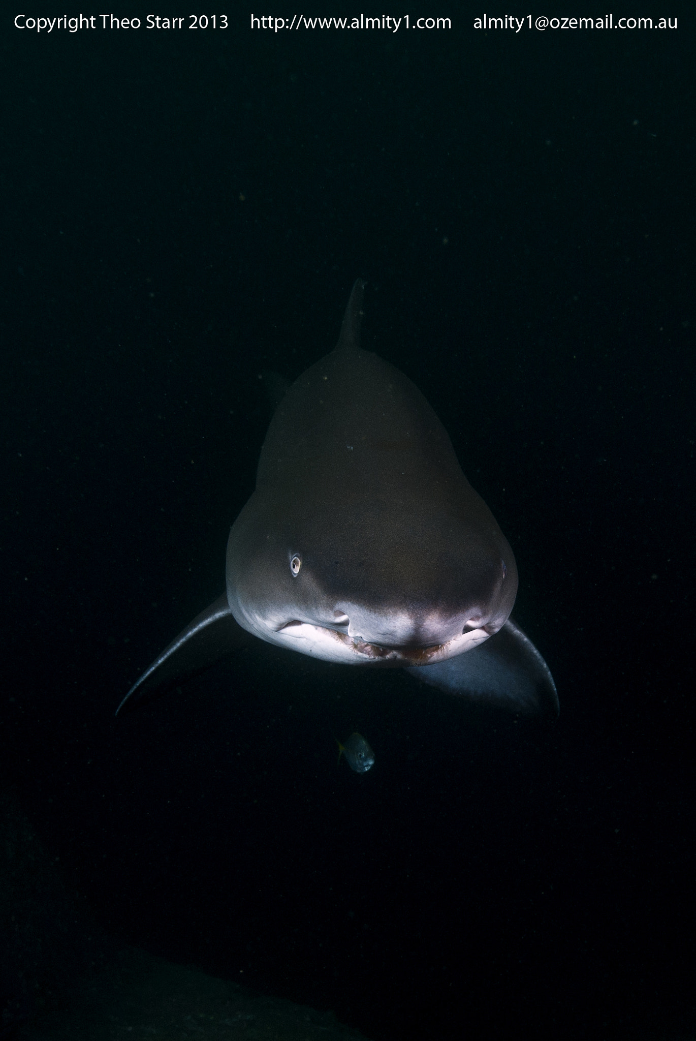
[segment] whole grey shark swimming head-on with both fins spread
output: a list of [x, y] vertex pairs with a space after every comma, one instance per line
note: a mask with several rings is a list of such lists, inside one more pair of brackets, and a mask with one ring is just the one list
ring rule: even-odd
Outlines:
[[285, 392], [256, 490], [232, 525], [223, 595], [118, 712], [251, 637], [345, 665], [401, 667], [514, 712], [558, 713], [551, 674], [510, 617], [513, 552], [444, 427], [403, 373], [359, 346], [364, 282], [335, 349]]

